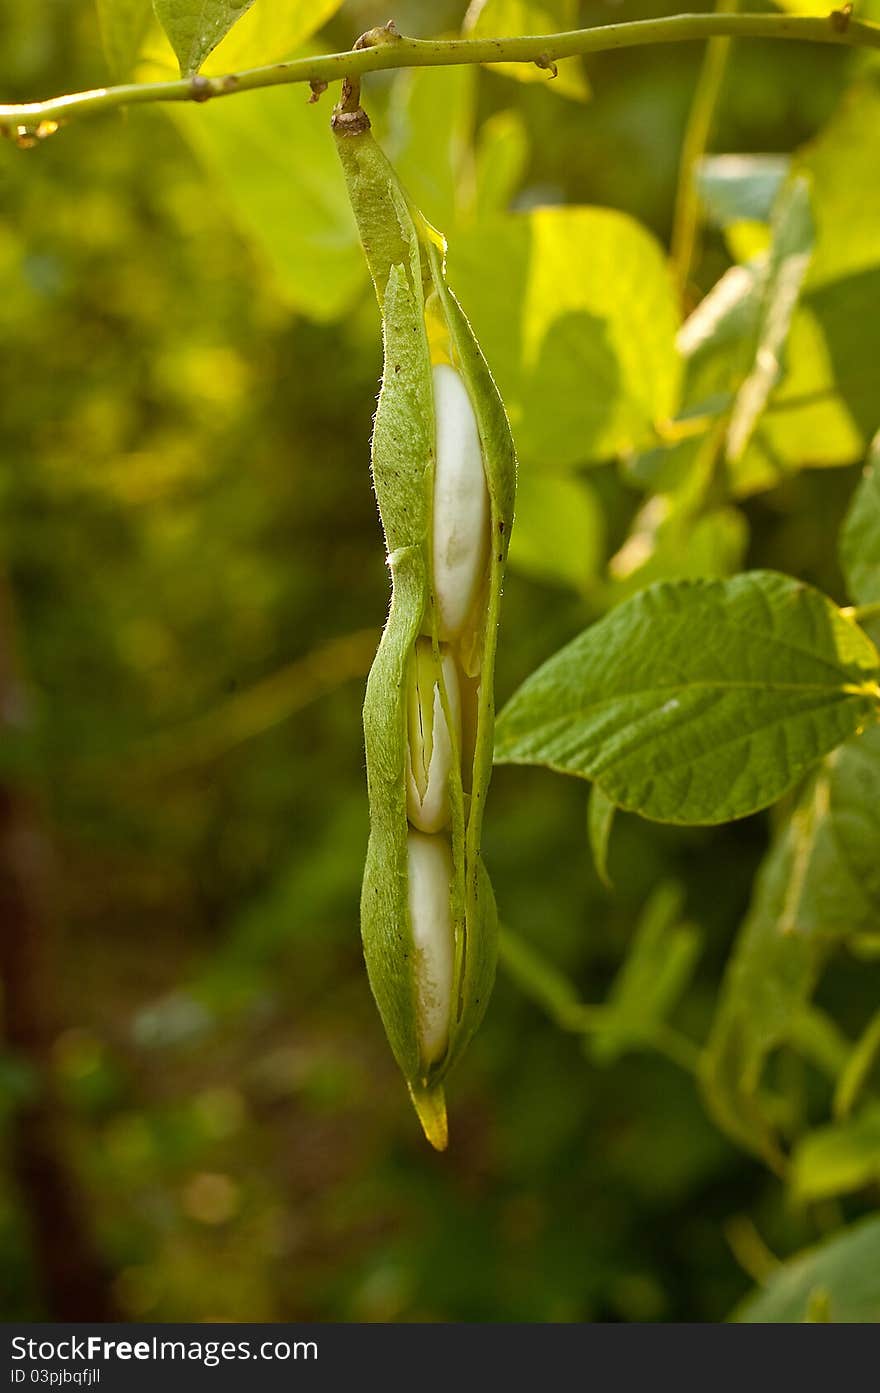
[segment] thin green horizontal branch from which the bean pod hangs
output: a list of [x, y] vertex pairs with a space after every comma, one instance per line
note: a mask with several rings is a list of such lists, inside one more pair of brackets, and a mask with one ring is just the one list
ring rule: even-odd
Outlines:
[[377, 31], [370, 46], [322, 57], [292, 59], [269, 67], [246, 68], [224, 77], [177, 78], [168, 82], [128, 82], [50, 98], [0, 106], [0, 132], [31, 145], [52, 135], [65, 121], [145, 102], [206, 102], [210, 98], [252, 92], [256, 88], [309, 82], [323, 86], [345, 77], [362, 77], [383, 68], [451, 67], [465, 63], [536, 63], [553, 70], [560, 59], [652, 43], [685, 43], [728, 36], [735, 39], [795, 39], [848, 47], [880, 49], [880, 26], [849, 18], [834, 10], [827, 18], [787, 14], [681, 14], [660, 20], [606, 24], [568, 33], [521, 35], [498, 39], [407, 39], [393, 31]]

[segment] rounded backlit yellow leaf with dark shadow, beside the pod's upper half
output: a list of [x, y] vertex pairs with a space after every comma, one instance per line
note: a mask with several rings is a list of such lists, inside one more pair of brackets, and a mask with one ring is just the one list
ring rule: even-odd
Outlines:
[[457, 287], [522, 458], [565, 468], [643, 449], [675, 411], [678, 309], [666, 259], [624, 213], [539, 208], [450, 247]]

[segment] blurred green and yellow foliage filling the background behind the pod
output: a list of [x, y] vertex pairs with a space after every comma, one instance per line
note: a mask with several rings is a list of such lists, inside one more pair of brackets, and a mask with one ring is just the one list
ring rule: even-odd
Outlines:
[[[465, 8], [401, 0], [395, 20], [430, 36]], [[560, 8], [582, 24], [664, 13]], [[227, 46], [228, 65], [306, 39], [343, 49], [387, 18], [365, 0], [312, 7], [327, 22], [309, 36], [291, 7], [290, 32], [269, 35], [262, 10], [209, 65]], [[110, 40], [117, 70], [129, 39]], [[0, 40], [4, 100], [107, 81], [84, 0], [7, 0]], [[142, 77], [170, 63], [156, 32], [146, 46]], [[748, 561], [847, 602], [835, 538], [880, 425], [876, 61], [732, 49], [713, 148], [791, 156], [812, 178], [816, 251], [788, 376], [725, 468], [712, 425], [691, 437], [684, 423], [730, 394], [725, 343], [737, 362], [744, 343], [755, 352], [755, 270], [731, 263], [766, 245], [771, 209], [710, 201], [684, 309], [744, 273], [735, 327], [725, 340], [730, 318], [692, 323], [699, 352], [677, 358], [664, 247], [699, 61], [695, 46], [600, 54], [568, 70], [568, 100], [544, 74], [366, 85], [414, 199], [450, 234], [451, 283], [521, 446], [500, 699], [649, 579]], [[54, 851], [52, 1070], [116, 1305], [135, 1321], [717, 1321], [767, 1277], [767, 1248], [824, 1240], [744, 1318], [877, 1319], [862, 1219], [880, 1176], [863, 1043], [876, 908], [809, 1009], [828, 944], [808, 936], [791, 972], [787, 958], [781, 1032], [727, 1029], [745, 999], [731, 978], [712, 1024], [774, 829], [744, 972], [778, 929], [812, 786], [791, 820], [618, 814], [608, 890], [583, 786], [500, 768], [485, 850], [505, 970], [454, 1080], [448, 1153], [418, 1135], [358, 936], [359, 708], [387, 605], [368, 469], [379, 325], [330, 95], [305, 95], [132, 109], [0, 149], [0, 556], [38, 713], [38, 738], [3, 755], [39, 790]], [[841, 797], [865, 776], [848, 758]], [[834, 850], [812, 847], [810, 912]], [[712, 1070], [698, 1080], [695, 1060], [710, 1028], [716, 1116], [752, 1151], [769, 1128], [771, 1163], [795, 1144], [791, 1188], [707, 1113]], [[859, 1048], [859, 1098], [831, 1121]], [[767, 1070], [751, 1130], [744, 1056]], [[11, 1124], [33, 1087], [26, 1059], [0, 1055], [7, 1319], [53, 1314], [13, 1178]]]

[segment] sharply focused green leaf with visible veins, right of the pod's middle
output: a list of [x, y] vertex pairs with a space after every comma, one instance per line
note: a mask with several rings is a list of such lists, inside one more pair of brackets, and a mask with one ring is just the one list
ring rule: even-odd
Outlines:
[[660, 822], [727, 822], [877, 719], [879, 662], [856, 624], [789, 577], [654, 585], [522, 684], [496, 761], [596, 779]]

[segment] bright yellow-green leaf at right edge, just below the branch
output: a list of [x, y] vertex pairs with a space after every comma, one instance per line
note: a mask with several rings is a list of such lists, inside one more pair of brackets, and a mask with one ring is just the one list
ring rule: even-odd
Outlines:
[[809, 176], [813, 194], [810, 288], [880, 265], [877, 130], [880, 88], [865, 78], [795, 159], [795, 173]]

